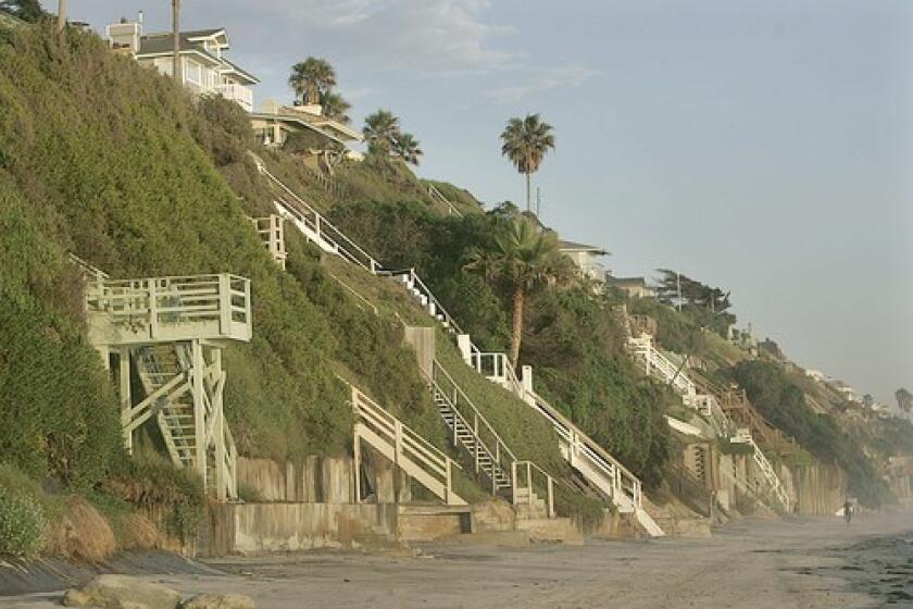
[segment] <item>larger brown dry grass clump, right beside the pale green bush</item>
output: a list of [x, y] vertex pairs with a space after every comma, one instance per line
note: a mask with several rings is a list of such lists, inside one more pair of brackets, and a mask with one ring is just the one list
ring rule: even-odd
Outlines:
[[116, 548], [114, 532], [104, 517], [86, 499], [74, 496], [50, 532], [45, 552], [70, 560], [98, 563], [110, 558]]

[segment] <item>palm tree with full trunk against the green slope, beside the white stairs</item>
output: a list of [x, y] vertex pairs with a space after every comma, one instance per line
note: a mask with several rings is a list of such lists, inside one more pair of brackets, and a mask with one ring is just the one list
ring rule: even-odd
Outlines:
[[542, 284], [563, 278], [567, 273], [558, 237], [542, 231], [529, 219], [516, 216], [503, 225], [490, 250], [476, 250], [465, 265], [492, 282], [502, 283], [511, 295], [513, 328], [510, 360], [516, 366], [523, 335], [523, 309], [526, 295]]

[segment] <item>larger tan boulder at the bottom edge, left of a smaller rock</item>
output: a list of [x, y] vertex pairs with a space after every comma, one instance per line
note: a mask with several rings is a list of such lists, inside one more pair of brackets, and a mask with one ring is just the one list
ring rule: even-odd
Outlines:
[[177, 591], [127, 575], [99, 575], [63, 597], [67, 607], [99, 609], [176, 609], [178, 602]]

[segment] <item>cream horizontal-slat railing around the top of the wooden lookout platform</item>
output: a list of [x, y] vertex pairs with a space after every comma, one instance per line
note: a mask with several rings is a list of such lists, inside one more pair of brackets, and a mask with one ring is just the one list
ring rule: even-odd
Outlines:
[[141, 327], [149, 339], [174, 338], [167, 331], [182, 325], [212, 338], [251, 336], [250, 279], [227, 273], [90, 281], [86, 307], [115, 326]]

